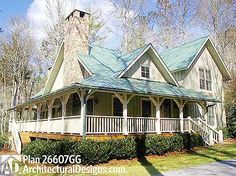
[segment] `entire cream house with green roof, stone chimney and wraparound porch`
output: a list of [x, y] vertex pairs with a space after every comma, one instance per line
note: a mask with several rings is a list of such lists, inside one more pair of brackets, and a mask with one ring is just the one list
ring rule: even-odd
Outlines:
[[160, 54], [152, 44], [122, 53], [89, 44], [88, 13], [74, 10], [65, 23], [44, 88], [12, 116], [15, 140], [199, 132], [208, 145], [222, 142], [231, 76], [208, 37]]

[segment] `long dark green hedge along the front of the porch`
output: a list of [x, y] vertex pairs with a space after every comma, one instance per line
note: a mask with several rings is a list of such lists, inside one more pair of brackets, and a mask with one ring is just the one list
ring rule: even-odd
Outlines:
[[203, 145], [203, 143], [197, 134], [169, 137], [140, 135], [107, 141], [89, 139], [80, 142], [36, 140], [26, 145], [22, 153], [41, 160], [43, 155], [80, 155], [82, 164], [98, 164], [111, 159], [132, 159], [135, 157], [142, 158], [147, 155], [163, 155], [199, 145]]

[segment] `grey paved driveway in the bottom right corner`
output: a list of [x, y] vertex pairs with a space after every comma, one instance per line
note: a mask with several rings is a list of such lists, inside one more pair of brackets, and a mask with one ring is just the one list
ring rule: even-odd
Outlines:
[[200, 166], [170, 171], [159, 176], [228, 176], [236, 175], [236, 159], [214, 162]]

